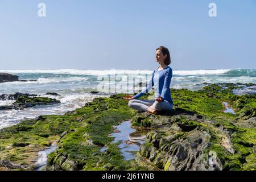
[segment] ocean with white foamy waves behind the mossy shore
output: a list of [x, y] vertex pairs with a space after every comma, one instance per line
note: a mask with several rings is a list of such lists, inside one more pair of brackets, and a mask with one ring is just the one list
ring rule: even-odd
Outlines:
[[[150, 80], [150, 70], [0, 70], [0, 73], [18, 75], [27, 82], [0, 83], [0, 95], [15, 92], [37, 94], [42, 97], [56, 98], [61, 104], [38, 106], [24, 110], [0, 111], [0, 129], [15, 125], [23, 119], [36, 118], [39, 115], [64, 114], [90, 102], [95, 97], [109, 97], [113, 93], [138, 92], [139, 82]], [[253, 83], [256, 84], [256, 69], [216, 69], [216, 70], [174, 70], [171, 88], [199, 90], [207, 83]], [[92, 91], [99, 91], [92, 94]], [[55, 92], [60, 96], [49, 96]], [[245, 86], [233, 91], [235, 94], [256, 94], [256, 86]], [[14, 101], [0, 100], [0, 106], [11, 105]]]

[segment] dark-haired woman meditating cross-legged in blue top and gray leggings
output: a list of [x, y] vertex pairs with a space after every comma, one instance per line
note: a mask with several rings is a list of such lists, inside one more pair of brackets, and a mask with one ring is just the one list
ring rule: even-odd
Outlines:
[[[166, 47], [160, 46], [156, 49], [155, 55], [160, 66], [153, 71], [149, 84], [136, 96], [125, 97], [125, 100], [129, 100], [129, 107], [152, 114], [158, 114], [160, 110], [171, 110], [173, 107], [170, 92], [172, 68], [168, 67], [171, 64], [170, 52]], [[155, 86], [155, 100], [138, 100], [148, 93], [152, 86]]]

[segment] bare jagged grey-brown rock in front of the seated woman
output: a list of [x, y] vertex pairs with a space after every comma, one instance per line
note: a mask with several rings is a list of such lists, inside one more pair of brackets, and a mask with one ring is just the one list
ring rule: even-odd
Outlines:
[[[223, 169], [220, 159], [214, 158], [214, 162], [210, 162], [208, 158], [209, 151], [206, 149], [210, 145], [212, 133], [196, 123], [203, 122], [203, 119], [183, 114], [172, 117], [149, 115], [137, 113], [134, 122], [138, 122], [139, 118], [149, 118], [148, 125], [154, 123], [153, 127], [158, 128], [147, 134], [146, 143], [140, 148], [141, 155], [158, 168], [171, 171]], [[183, 117], [187, 120], [181, 121]], [[144, 119], [139, 122], [144, 122]]]

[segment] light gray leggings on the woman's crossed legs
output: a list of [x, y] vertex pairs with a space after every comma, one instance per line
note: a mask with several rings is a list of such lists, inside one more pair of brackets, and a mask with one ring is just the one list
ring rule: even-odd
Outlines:
[[173, 105], [168, 101], [156, 102], [155, 100], [137, 100], [129, 101], [129, 107], [141, 111], [146, 111], [148, 107], [152, 106], [155, 110], [171, 110]]

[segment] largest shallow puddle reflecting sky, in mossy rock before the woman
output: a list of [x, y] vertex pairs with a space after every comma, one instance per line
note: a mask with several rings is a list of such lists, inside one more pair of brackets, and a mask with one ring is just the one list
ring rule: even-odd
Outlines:
[[[139, 147], [146, 140], [146, 134], [150, 130], [139, 130], [131, 127], [131, 121], [122, 122], [118, 126], [114, 126], [114, 133], [111, 134], [114, 137], [112, 143], [120, 143], [121, 154], [125, 160], [135, 159]], [[102, 147], [101, 151], [105, 151], [106, 147]]]

